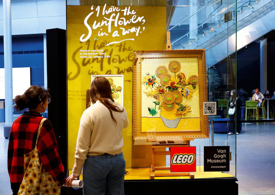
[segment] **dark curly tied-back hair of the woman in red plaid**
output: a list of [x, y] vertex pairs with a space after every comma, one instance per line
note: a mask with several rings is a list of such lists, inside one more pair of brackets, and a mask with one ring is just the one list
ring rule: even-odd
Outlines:
[[17, 95], [13, 99], [15, 101], [15, 109], [24, 110], [25, 108], [36, 109], [40, 102], [45, 102], [50, 97], [49, 89], [45, 90], [40, 86], [30, 86], [23, 95]]

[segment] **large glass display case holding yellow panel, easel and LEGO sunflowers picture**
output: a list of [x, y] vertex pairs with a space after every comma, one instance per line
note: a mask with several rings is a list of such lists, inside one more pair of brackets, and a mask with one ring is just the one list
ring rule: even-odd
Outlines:
[[236, 105], [236, 13], [243, 4], [67, 3], [68, 172], [91, 79], [104, 75], [129, 119], [125, 193], [138, 181], [235, 183], [238, 108], [233, 115], [228, 109]]

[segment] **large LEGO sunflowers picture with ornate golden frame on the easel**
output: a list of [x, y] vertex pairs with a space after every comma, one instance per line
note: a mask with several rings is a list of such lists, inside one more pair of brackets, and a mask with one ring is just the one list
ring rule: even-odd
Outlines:
[[205, 50], [134, 51], [133, 138], [208, 138]]

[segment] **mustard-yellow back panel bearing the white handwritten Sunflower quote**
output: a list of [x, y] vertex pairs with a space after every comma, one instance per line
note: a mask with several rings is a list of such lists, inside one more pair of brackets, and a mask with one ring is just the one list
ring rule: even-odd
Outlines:
[[[127, 9], [126, 11], [125, 8]], [[110, 11], [110, 13], [106, 11]], [[141, 18], [140, 21], [136, 21], [138, 17]], [[114, 20], [117, 18], [118, 25], [115, 26], [116, 21], [111, 21], [111, 25], [109, 25], [110, 18]], [[101, 24], [102, 21], [103, 26], [93, 28], [94, 22], [96, 25], [98, 23]], [[119, 25], [121, 24], [119, 21], [122, 21], [123, 24]], [[124, 25], [124, 21], [130, 21], [130, 23]], [[91, 28], [90, 31], [87, 25]], [[136, 32], [137, 29], [139, 32]], [[112, 36], [115, 31], [117, 31], [119, 36]], [[126, 31], [129, 33], [127, 34]], [[126, 34], [123, 35], [123, 33]], [[67, 6], [69, 170], [74, 165], [79, 121], [83, 111], [86, 109], [86, 91], [90, 88], [91, 74], [124, 74], [124, 107], [130, 123], [123, 130], [123, 153], [126, 159], [126, 167], [132, 167], [132, 165], [135, 167], [148, 166], [151, 163], [150, 158], [145, 160], [146, 156], [150, 157], [149, 153], [151, 150], [148, 149], [149, 146], [137, 146], [135, 147], [136, 149], [132, 149], [133, 51], [163, 50], [166, 44], [165, 36], [166, 7], [118, 6], [116, 8], [106, 6], [104, 8], [103, 6]], [[89, 39], [82, 42], [80, 37], [82, 39], [89, 37]], [[119, 43], [108, 45], [114, 41]], [[100, 56], [100, 58], [95, 56]], [[139, 151], [142, 147], [147, 148], [147, 152], [144, 152], [143, 160], [147, 161], [147, 163], [132, 162], [132, 159], [133, 161], [136, 159], [133, 153]], [[142, 160], [139, 158], [138, 161]]]

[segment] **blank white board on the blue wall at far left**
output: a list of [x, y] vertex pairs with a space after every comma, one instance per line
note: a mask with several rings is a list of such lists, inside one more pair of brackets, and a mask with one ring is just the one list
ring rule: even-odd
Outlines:
[[[30, 67], [12, 68], [12, 96], [22, 95], [31, 86]], [[5, 99], [5, 69], [0, 68], [0, 99]]]

